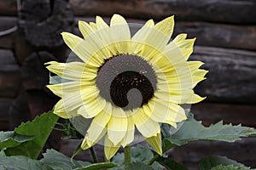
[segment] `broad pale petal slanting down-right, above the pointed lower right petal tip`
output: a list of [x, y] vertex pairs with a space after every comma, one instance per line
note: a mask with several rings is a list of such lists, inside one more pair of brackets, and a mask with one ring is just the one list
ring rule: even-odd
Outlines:
[[159, 123], [150, 119], [141, 108], [132, 115], [132, 118], [138, 131], [142, 133], [145, 138], [156, 136], [160, 130]]

